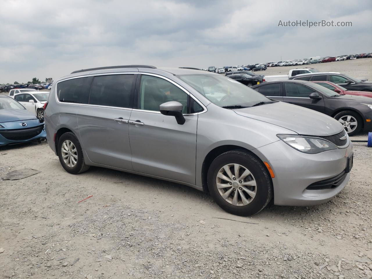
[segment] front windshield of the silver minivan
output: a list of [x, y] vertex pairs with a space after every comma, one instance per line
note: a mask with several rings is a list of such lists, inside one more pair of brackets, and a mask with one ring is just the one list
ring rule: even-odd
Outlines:
[[177, 76], [220, 107], [246, 108], [262, 102], [275, 102], [228, 77], [210, 74]]

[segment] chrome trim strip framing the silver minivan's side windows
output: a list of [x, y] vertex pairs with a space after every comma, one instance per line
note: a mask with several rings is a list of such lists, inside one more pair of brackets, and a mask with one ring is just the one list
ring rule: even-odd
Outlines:
[[[190, 97], [192, 97], [203, 108], [203, 111], [201, 111], [201, 112], [188, 113], [188, 114], [184, 114], [183, 116], [197, 115], [197, 114], [201, 114], [201, 113], [204, 113], [204, 112], [207, 112], [208, 111], [208, 109], [206, 108], [205, 105], [202, 104], [202, 102], [200, 102], [195, 96], [193, 96], [193, 94], [191, 94], [185, 88], [183, 88], [182, 86], [180, 86], [178, 83], [174, 82], [173, 80], [170, 80], [167, 77], [161, 76], [159, 74], [145, 73], [145, 72], [119, 72], [119, 73], [104, 73], [104, 74], [87, 74], [87, 75], [84, 75], [84, 76], [76, 76], [76, 77], [65, 78], [63, 80], [57, 81], [56, 86], [54, 87], [54, 97], [55, 97], [55, 100], [56, 100], [56, 102], [58, 104], [61, 104], [61, 105], [93, 106], [93, 107], [99, 107], [99, 108], [112, 108], [112, 109], [124, 109], [124, 110], [135, 110], [135, 111], [143, 111], [143, 112], [161, 113], [160, 111], [157, 112], [157, 111], [154, 111], [154, 110], [143, 110], [143, 109], [134, 109], [134, 108], [119, 108], [119, 107], [115, 107], [115, 106], [113, 107], [113, 106], [102, 106], [102, 105], [90, 105], [90, 104], [81, 104], [81, 103], [60, 102], [60, 100], [58, 99], [58, 96], [57, 96], [57, 86], [58, 86], [58, 83], [60, 83], [62, 81], [72, 80], [72, 79], [75, 79], [75, 78], [82, 78], [82, 77], [93, 77], [94, 78], [95, 76], [110, 76], [110, 75], [117, 75], [117, 74], [134, 74], [135, 75], [135, 78], [137, 78], [137, 80], [135, 81], [136, 86], [135, 86], [135, 91], [134, 91], [134, 100], [135, 100], [136, 97], [138, 97], [138, 94], [137, 94], [137, 91], [139, 89], [139, 86], [137, 86], [137, 83], [139, 83], [138, 76], [144, 74], [144, 75], [148, 75], [148, 76], [154, 76], [154, 77], [163, 78], [164, 80], [169, 81], [170, 83], [172, 83], [175, 86], [179, 87], [183, 92], [185, 92], [186, 94], [188, 94]], [[93, 79], [92, 79], [92, 81], [93, 81]], [[89, 90], [89, 95], [90, 95], [90, 90]]]

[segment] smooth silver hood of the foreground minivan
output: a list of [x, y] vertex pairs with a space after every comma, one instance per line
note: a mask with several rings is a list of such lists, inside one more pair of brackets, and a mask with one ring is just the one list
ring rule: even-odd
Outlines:
[[284, 102], [234, 109], [234, 112], [292, 130], [300, 135], [327, 136], [337, 134], [343, 129], [340, 122], [330, 116]]

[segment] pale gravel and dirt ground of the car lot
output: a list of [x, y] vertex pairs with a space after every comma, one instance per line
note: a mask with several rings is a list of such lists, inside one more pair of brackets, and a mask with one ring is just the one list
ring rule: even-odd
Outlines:
[[[371, 61], [315, 67], [371, 80]], [[98, 167], [68, 174], [46, 142], [0, 147], [0, 177], [41, 171], [0, 180], [0, 278], [371, 279], [372, 148], [354, 154], [330, 202], [244, 218], [186, 186]]]

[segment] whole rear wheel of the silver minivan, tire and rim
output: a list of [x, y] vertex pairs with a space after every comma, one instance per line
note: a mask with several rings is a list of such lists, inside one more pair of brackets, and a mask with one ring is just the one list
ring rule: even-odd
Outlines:
[[89, 169], [85, 164], [80, 142], [74, 133], [61, 135], [58, 140], [58, 157], [62, 167], [68, 173], [78, 174]]

